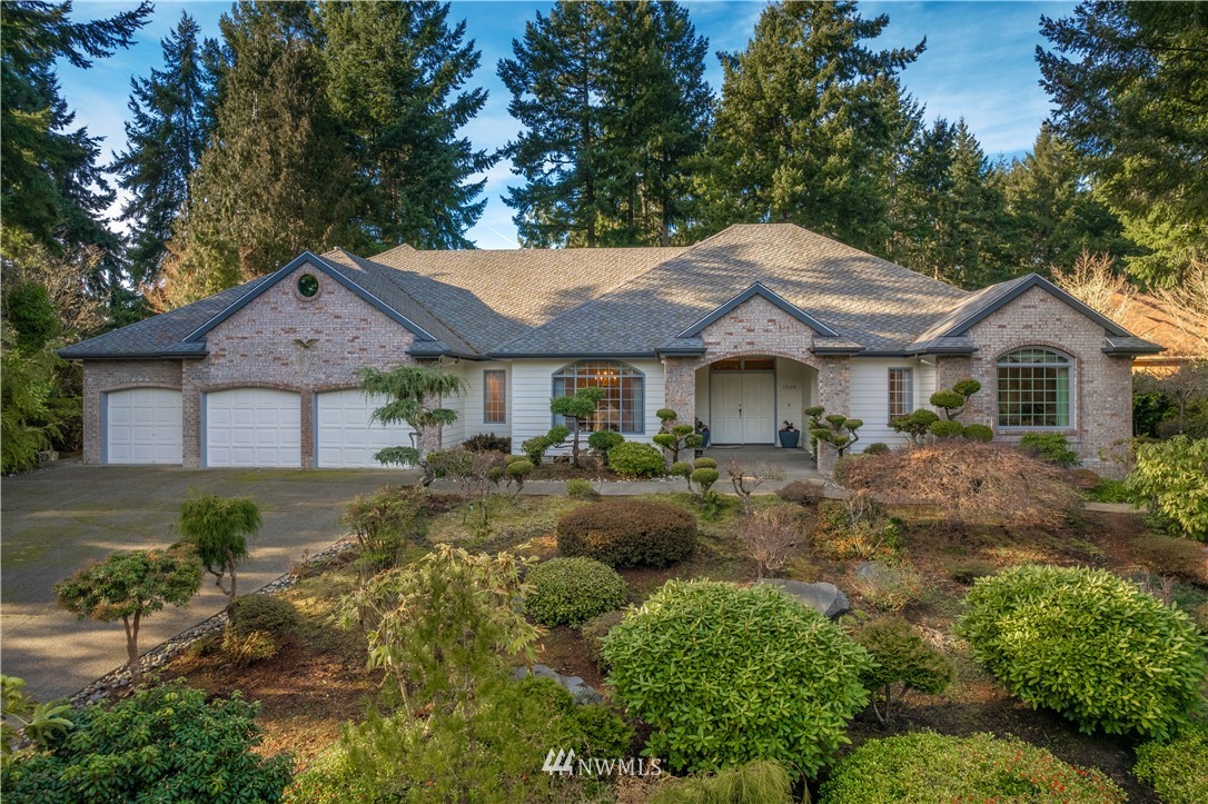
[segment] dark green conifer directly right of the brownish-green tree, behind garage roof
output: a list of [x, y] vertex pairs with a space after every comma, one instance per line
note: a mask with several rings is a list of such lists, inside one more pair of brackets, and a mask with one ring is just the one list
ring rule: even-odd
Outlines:
[[478, 66], [465, 22], [448, 4], [324, 2], [320, 24], [332, 110], [368, 183], [367, 235], [387, 246], [471, 247], [465, 231], [486, 206], [486, 171], [499, 158], [458, 130], [487, 101], [461, 92]]

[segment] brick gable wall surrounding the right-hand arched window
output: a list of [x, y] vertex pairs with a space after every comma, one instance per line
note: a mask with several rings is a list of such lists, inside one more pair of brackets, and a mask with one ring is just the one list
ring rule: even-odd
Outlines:
[[1082, 464], [1119, 476], [1120, 464], [1100, 458], [1115, 442], [1132, 436], [1132, 360], [1103, 354], [1103, 327], [1039, 287], [978, 322], [970, 334], [977, 351], [970, 357], [941, 357], [939, 388], [972, 377], [982, 391], [970, 398], [963, 421], [994, 427], [995, 441], [1018, 442], [1022, 432], [998, 427], [998, 360], [1021, 346], [1051, 346], [1074, 359], [1070, 367], [1070, 415], [1065, 435]]

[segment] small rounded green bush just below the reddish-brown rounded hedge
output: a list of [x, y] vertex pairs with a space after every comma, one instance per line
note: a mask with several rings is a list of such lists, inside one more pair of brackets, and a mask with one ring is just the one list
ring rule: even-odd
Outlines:
[[524, 611], [542, 625], [579, 625], [625, 604], [625, 581], [590, 558], [558, 558], [533, 567]]

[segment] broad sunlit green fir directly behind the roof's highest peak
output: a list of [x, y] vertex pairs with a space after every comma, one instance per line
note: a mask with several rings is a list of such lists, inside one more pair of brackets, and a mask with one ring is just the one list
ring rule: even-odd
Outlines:
[[875, 51], [884, 14], [850, 1], [768, 6], [725, 81], [701, 181], [704, 228], [788, 221], [850, 245], [889, 237], [885, 197], [913, 120], [896, 74], [925, 41]]

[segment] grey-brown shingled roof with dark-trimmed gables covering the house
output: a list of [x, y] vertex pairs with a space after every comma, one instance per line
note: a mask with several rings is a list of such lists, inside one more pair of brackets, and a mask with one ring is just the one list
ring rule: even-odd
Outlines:
[[[693, 325], [754, 293], [811, 326], [819, 351], [969, 351], [969, 322], [1023, 290], [1043, 284], [1068, 297], [1035, 275], [969, 293], [798, 226], [738, 225], [687, 247], [307, 252], [268, 276], [60, 354], [204, 356], [205, 332], [303, 260], [413, 330], [416, 356], [693, 354], [703, 349]], [[1109, 351], [1157, 349], [1102, 322]]]

